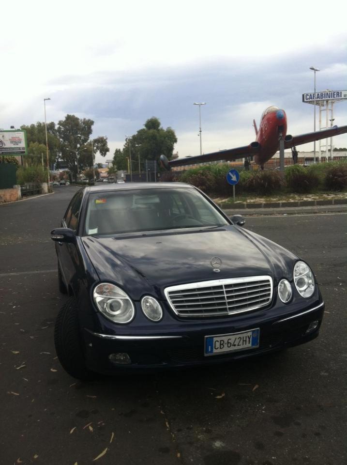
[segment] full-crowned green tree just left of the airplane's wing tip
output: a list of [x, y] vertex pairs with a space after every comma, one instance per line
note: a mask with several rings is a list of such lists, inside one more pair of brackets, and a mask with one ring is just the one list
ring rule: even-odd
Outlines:
[[123, 155], [128, 156], [130, 144], [131, 158], [137, 160], [138, 156], [140, 157], [141, 169], [144, 169], [145, 160], [159, 160], [160, 155], [166, 155], [170, 159], [177, 142], [175, 131], [171, 127], [164, 129], [160, 120], [154, 116], [149, 118], [144, 126], [126, 140], [123, 148]]

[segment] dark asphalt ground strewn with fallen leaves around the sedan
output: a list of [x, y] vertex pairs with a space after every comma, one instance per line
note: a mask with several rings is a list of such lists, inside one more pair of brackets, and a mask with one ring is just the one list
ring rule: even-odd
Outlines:
[[0, 464], [347, 463], [347, 215], [246, 221], [315, 271], [326, 303], [315, 341], [87, 384], [62, 370], [53, 342], [65, 297], [49, 232], [75, 190], [0, 205]]

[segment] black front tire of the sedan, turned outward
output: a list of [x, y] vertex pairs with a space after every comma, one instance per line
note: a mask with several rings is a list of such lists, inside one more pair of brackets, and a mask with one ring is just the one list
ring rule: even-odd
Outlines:
[[60, 364], [67, 373], [84, 381], [95, 378], [95, 373], [85, 364], [75, 297], [70, 297], [58, 314], [54, 344]]

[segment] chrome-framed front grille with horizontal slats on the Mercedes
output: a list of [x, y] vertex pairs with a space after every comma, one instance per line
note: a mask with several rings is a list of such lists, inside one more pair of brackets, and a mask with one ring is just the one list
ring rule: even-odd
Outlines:
[[251, 276], [182, 284], [167, 287], [165, 296], [179, 316], [231, 315], [268, 305], [272, 299], [272, 278]]

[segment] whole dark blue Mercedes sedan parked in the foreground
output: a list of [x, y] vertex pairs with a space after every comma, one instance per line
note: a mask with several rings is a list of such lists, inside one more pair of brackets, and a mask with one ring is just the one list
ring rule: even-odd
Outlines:
[[194, 186], [79, 190], [52, 231], [63, 368], [95, 372], [209, 365], [318, 336], [324, 303], [309, 265], [242, 228]]

